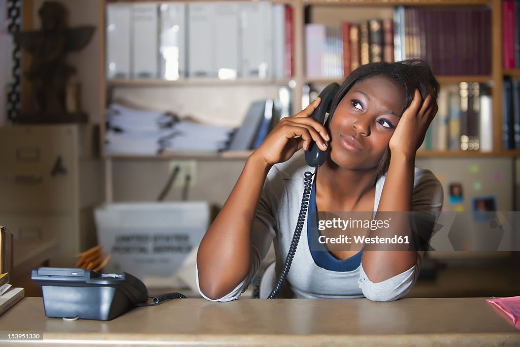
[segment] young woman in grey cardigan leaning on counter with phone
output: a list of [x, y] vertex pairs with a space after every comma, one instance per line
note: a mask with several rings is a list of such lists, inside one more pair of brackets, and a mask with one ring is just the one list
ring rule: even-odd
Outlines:
[[[424, 61], [370, 63], [343, 82], [332, 102], [328, 128], [309, 117], [319, 98], [282, 119], [247, 159], [200, 244], [197, 283], [203, 297], [237, 299], [273, 240], [274, 272], [280, 273], [300, 213], [304, 172], [310, 169], [303, 155], [295, 153], [307, 150], [311, 141], [329, 156], [313, 177], [309, 213], [440, 211], [439, 181], [414, 166], [415, 153], [438, 109], [438, 91]], [[391, 301], [413, 286], [421, 251], [335, 250], [317, 256], [309, 248], [307, 220], [284, 296]]]

